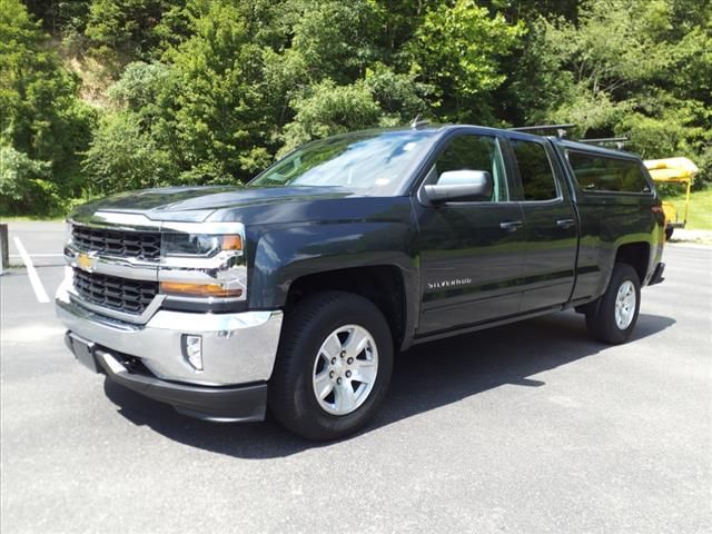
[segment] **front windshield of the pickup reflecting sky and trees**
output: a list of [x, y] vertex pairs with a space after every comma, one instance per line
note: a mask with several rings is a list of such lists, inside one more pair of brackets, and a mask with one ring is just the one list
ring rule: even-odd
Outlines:
[[394, 191], [433, 131], [348, 134], [299, 147], [250, 186], [324, 186]]

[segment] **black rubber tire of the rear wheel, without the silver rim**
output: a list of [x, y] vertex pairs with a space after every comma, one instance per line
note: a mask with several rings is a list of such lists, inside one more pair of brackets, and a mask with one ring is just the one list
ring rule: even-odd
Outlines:
[[[633, 284], [635, 289], [635, 309], [631, 323], [621, 328], [615, 319], [615, 307], [619, 289], [626, 283]], [[627, 264], [615, 264], [609, 287], [594, 306], [586, 313], [586, 327], [591, 336], [603, 343], [620, 345], [627, 342], [637, 323], [641, 306], [641, 283], [637, 273]]]

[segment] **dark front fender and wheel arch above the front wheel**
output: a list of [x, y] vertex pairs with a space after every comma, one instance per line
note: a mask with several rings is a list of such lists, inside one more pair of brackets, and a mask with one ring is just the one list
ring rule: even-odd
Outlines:
[[248, 271], [250, 309], [288, 308], [306, 294], [343, 290], [372, 300], [409, 346], [419, 314], [412, 228], [376, 221], [295, 226], [263, 234]]

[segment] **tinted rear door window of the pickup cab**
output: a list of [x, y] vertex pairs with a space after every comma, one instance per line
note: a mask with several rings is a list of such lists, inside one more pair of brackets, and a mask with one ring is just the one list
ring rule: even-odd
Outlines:
[[540, 142], [512, 140], [522, 178], [524, 200], [553, 200], [558, 197], [546, 149]]

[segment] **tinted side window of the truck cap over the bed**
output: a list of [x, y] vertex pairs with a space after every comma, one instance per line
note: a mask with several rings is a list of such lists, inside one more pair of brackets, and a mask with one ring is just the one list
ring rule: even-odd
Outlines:
[[570, 150], [568, 164], [578, 187], [591, 192], [650, 192], [640, 161]]

